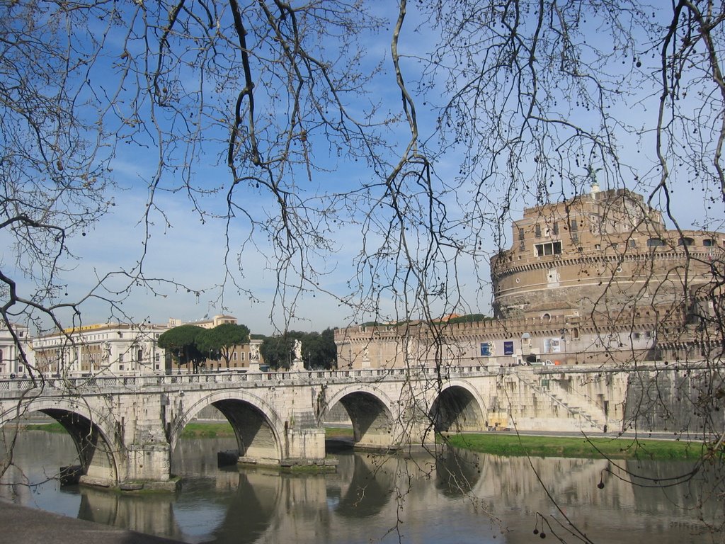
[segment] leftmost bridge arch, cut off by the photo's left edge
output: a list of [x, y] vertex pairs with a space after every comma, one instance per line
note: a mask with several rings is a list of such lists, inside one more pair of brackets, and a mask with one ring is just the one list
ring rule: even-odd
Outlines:
[[107, 413], [91, 408], [74, 397], [39, 397], [22, 401], [0, 414], [0, 427], [19, 414], [41, 412], [55, 419], [66, 430], [78, 450], [80, 474], [87, 483], [115, 486], [125, 454], [116, 440], [115, 425]]

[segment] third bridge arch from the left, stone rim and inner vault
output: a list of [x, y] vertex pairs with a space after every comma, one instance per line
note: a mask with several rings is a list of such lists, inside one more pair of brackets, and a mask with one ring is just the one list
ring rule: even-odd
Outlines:
[[392, 445], [396, 419], [394, 403], [381, 390], [368, 384], [351, 384], [323, 402], [318, 414], [322, 426], [329, 411], [341, 403], [352, 421], [353, 440], [357, 448], [389, 448]]

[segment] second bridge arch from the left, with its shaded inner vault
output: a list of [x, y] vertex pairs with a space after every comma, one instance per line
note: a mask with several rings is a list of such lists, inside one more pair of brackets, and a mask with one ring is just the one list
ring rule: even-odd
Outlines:
[[229, 421], [236, 434], [240, 458], [258, 463], [278, 464], [287, 456], [284, 448], [286, 426], [265, 400], [244, 390], [222, 390], [204, 395], [189, 406], [169, 433], [171, 450], [183, 428], [197, 413], [212, 405]]

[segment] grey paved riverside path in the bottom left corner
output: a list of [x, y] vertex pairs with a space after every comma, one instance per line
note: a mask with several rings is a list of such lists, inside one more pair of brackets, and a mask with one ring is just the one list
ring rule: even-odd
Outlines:
[[0, 500], [0, 544], [178, 544]]

